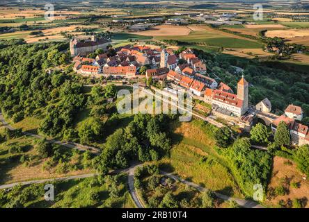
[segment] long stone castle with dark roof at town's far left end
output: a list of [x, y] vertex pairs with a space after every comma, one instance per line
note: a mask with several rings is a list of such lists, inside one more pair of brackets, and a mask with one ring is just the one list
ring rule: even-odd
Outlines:
[[106, 51], [106, 46], [108, 46], [110, 42], [110, 40], [105, 38], [97, 39], [94, 35], [91, 37], [91, 40], [80, 41], [77, 39], [72, 39], [70, 41], [71, 56], [92, 53], [97, 49], [103, 49]]

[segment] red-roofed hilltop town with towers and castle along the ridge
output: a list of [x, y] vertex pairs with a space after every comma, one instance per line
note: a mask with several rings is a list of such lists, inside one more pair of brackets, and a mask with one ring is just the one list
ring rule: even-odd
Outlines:
[[[256, 119], [262, 119], [274, 132], [280, 121], [284, 121], [294, 144], [309, 144], [309, 128], [300, 123], [303, 119], [301, 107], [291, 104], [284, 114], [276, 116], [271, 114], [271, 101], [267, 98], [258, 104], [249, 104], [249, 83], [244, 76], [237, 83], [235, 94], [228, 85], [218, 83], [207, 75], [205, 61], [191, 49], [177, 55], [173, 49], [125, 45], [114, 49], [111, 55], [106, 53], [108, 44], [109, 40], [95, 40], [94, 36], [88, 42], [71, 40], [74, 71], [91, 78], [145, 78], [160, 85], [166, 83], [165, 87], [171, 89], [188, 90], [194, 99], [211, 105], [214, 117], [226, 119], [247, 132], [250, 132]], [[102, 49], [104, 53], [87, 58], [97, 49]]]

